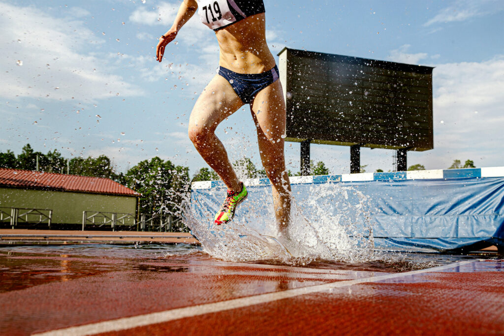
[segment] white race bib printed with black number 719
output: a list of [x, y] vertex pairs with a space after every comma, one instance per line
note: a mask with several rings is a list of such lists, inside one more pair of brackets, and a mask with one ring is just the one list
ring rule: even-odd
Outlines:
[[201, 22], [210, 29], [217, 29], [236, 22], [227, 0], [197, 0]]

